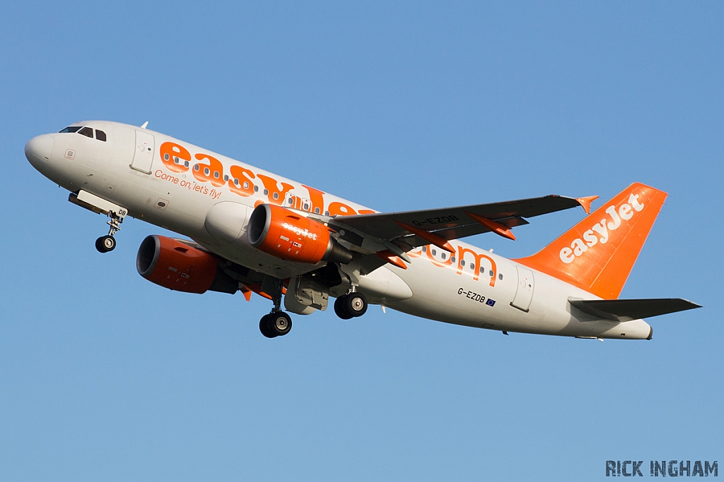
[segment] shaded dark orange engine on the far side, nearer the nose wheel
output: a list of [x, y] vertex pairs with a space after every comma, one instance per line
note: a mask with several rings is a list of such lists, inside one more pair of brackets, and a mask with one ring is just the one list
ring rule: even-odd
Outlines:
[[208, 290], [236, 293], [239, 283], [216, 264], [216, 258], [166, 236], [148, 236], [138, 248], [138, 274], [156, 285], [185, 293]]

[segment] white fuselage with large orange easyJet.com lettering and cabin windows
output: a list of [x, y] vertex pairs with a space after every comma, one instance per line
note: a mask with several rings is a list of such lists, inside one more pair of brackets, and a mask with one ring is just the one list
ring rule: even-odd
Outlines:
[[[256, 205], [329, 216], [375, 212], [159, 132], [108, 121], [79, 125], [101, 129], [107, 140], [77, 133], [44, 134], [26, 146], [30, 163], [69, 191], [95, 194], [125, 207], [133, 218], [188, 236], [266, 275], [284, 279], [313, 267], [283, 261], [249, 244], [244, 231]], [[161, 147], [168, 152], [169, 145], [188, 151], [188, 165], [183, 158], [164, 163]], [[175, 171], [169, 162], [177, 166], [171, 166]], [[240, 231], [219, 234], [227, 228], [223, 220], [230, 212], [240, 221]], [[569, 298], [597, 296], [562, 280], [462, 241], [450, 244], [454, 255], [435, 246], [415, 249], [408, 253], [412, 262], [407, 270], [385, 264], [362, 276], [358, 289], [371, 303], [471, 327], [619, 339], [645, 339], [651, 333], [640, 319], [611, 322], [578, 311]]]

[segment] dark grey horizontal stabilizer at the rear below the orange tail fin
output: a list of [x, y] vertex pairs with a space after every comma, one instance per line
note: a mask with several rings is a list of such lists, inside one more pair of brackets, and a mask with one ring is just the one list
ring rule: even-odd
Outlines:
[[592, 317], [614, 322], [657, 317], [702, 306], [682, 298], [649, 298], [642, 300], [573, 300], [568, 302]]

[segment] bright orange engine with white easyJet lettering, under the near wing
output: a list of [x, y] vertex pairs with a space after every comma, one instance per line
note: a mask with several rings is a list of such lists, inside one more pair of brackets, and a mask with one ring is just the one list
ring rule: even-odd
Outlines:
[[327, 226], [285, 207], [258, 205], [249, 218], [248, 233], [251, 246], [287, 261], [352, 261], [352, 253], [329, 236]]

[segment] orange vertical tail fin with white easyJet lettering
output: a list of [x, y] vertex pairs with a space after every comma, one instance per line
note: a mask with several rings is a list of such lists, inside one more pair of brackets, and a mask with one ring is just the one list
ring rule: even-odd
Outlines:
[[666, 197], [631, 184], [538, 253], [514, 261], [601, 298], [618, 298]]

